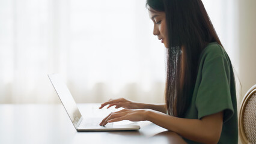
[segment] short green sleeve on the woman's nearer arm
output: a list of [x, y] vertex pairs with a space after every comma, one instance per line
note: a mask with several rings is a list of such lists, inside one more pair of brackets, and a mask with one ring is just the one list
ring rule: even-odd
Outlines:
[[197, 92], [198, 119], [224, 111], [226, 122], [234, 114], [230, 92], [230, 65], [223, 55], [204, 61]]

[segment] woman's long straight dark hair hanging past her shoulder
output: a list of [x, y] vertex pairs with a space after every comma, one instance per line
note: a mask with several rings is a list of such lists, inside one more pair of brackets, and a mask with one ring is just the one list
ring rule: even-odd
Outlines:
[[192, 98], [201, 52], [208, 43], [222, 44], [201, 0], [147, 0], [146, 5], [165, 12], [168, 38], [166, 108], [169, 115], [182, 118]]

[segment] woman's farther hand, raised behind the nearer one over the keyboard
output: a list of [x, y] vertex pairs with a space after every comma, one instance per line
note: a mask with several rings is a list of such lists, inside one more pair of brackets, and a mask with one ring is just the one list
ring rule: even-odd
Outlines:
[[102, 104], [102, 106], [99, 107], [99, 109], [102, 109], [106, 105], [109, 107], [115, 106], [116, 109], [123, 107], [124, 109], [139, 109], [139, 103], [133, 102], [126, 100], [125, 98], [117, 98], [117, 99], [110, 99], [109, 101], [106, 101], [105, 103]]

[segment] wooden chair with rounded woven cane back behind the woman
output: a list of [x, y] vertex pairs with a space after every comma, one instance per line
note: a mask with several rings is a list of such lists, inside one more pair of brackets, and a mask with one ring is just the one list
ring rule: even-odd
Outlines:
[[239, 112], [239, 135], [242, 143], [256, 144], [256, 85], [243, 98]]

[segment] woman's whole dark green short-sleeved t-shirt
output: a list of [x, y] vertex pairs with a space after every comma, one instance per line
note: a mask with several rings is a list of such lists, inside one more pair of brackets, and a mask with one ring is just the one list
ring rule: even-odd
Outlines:
[[[184, 118], [201, 119], [224, 111], [218, 143], [238, 143], [236, 86], [233, 68], [225, 50], [210, 43], [200, 55], [192, 101]], [[187, 143], [197, 143], [190, 140]]]

